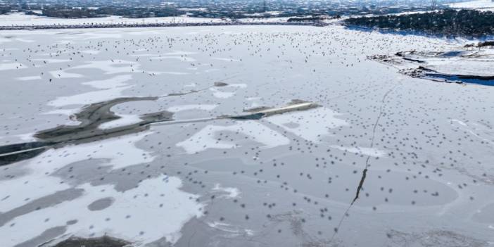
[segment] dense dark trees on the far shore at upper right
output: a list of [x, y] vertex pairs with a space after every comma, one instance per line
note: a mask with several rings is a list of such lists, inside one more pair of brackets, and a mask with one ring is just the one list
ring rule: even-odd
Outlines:
[[491, 11], [446, 9], [410, 15], [349, 18], [345, 22], [347, 25], [361, 27], [424, 32], [445, 36], [482, 37], [494, 34], [494, 13]]

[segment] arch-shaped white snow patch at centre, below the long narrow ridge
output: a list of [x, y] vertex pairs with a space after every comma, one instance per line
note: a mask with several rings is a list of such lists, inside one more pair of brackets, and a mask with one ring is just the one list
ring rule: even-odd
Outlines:
[[237, 141], [219, 140], [217, 135], [220, 132], [241, 133], [247, 137], [249, 141], [255, 141], [262, 144], [263, 148], [273, 148], [290, 144], [290, 140], [278, 132], [266, 127], [255, 121], [236, 122], [234, 125], [208, 125], [194, 134], [189, 139], [177, 143], [177, 146], [184, 148], [186, 153], [192, 154], [205, 151], [209, 148], [229, 149], [239, 147], [239, 139]]

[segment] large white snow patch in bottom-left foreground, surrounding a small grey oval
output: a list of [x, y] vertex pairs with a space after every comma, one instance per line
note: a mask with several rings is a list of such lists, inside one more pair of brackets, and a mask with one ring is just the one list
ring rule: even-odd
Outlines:
[[[198, 196], [180, 190], [182, 181], [162, 175], [144, 180], [134, 189], [119, 192], [112, 185], [82, 184], [84, 194], [50, 208], [42, 208], [15, 218], [12, 226], [0, 229], [5, 246], [15, 246], [44, 232], [44, 229], [66, 225], [65, 234], [95, 237], [108, 234], [132, 241], [139, 246], [166, 237], [175, 243], [183, 224], [203, 215]], [[88, 205], [102, 198], [113, 203], [101, 210]], [[74, 224], [66, 222], [77, 220]], [[160, 227], [156, 227], [156, 226]]]

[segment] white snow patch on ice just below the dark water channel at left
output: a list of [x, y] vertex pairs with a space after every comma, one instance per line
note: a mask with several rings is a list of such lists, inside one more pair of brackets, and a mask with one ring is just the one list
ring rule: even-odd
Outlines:
[[[63, 183], [58, 177], [51, 177], [51, 173], [77, 161], [87, 158], [108, 159], [106, 164], [111, 165], [113, 169], [151, 162], [154, 159], [151, 153], [134, 146], [135, 142], [145, 136], [146, 134], [138, 134], [45, 151], [42, 155], [29, 160], [24, 166], [27, 175], [0, 180], [0, 212], [13, 210], [37, 198], [54, 194], [56, 191], [69, 189], [68, 184]], [[53, 162], [52, 157], [56, 157], [56, 162]], [[6, 231], [0, 230], [1, 233], [5, 234]]]

